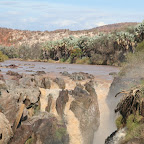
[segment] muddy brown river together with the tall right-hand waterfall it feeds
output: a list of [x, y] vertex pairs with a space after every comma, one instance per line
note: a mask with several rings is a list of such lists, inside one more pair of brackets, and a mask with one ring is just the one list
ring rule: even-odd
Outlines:
[[[6, 66], [10, 64], [15, 64], [18, 68], [10, 69]], [[67, 71], [69, 73], [73, 72], [85, 72], [93, 74], [95, 79], [98, 81], [98, 85], [95, 87], [99, 109], [100, 109], [100, 126], [95, 132], [93, 144], [104, 144], [105, 139], [116, 127], [114, 122], [111, 120], [110, 115], [113, 113], [106, 102], [106, 97], [109, 91], [109, 87], [112, 83], [113, 76], [109, 75], [111, 72], [119, 72], [118, 67], [114, 66], [104, 66], [104, 65], [80, 65], [80, 64], [61, 64], [61, 63], [46, 63], [46, 62], [27, 62], [27, 61], [14, 61], [8, 60], [5, 62], [0, 62], [1, 73], [5, 74], [8, 70], [18, 72], [33, 74], [36, 71], [45, 71], [50, 73], [56, 73]]]

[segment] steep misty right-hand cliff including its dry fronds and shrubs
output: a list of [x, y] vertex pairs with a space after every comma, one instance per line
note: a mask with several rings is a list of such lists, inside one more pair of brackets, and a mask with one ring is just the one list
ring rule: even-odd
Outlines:
[[106, 140], [106, 144], [143, 144], [144, 125], [144, 65], [143, 45], [127, 59], [110, 87], [109, 107], [118, 115], [113, 123], [117, 131]]

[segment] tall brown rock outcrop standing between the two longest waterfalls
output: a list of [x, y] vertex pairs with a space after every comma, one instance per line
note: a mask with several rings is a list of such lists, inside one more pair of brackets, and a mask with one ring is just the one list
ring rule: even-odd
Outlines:
[[83, 136], [83, 143], [90, 144], [93, 141], [94, 131], [99, 126], [99, 110], [97, 95], [92, 83], [86, 83], [85, 89], [76, 87], [73, 90], [75, 100], [71, 103], [70, 109], [80, 121], [80, 130]]

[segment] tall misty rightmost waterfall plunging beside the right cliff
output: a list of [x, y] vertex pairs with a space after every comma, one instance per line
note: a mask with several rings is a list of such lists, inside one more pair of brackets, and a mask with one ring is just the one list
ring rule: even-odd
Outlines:
[[[96, 86], [100, 109], [100, 126], [95, 132], [93, 144], [104, 144], [105, 139], [116, 130], [114, 108], [113, 110], [110, 109], [106, 100], [110, 84], [110, 81], [105, 81]], [[111, 105], [114, 104], [111, 103]]]

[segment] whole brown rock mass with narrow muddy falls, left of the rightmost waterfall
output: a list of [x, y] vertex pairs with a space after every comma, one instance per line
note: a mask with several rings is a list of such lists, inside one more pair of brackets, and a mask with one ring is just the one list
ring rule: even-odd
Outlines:
[[[1, 75], [0, 112], [9, 126], [6, 143], [91, 144], [99, 126], [97, 94], [92, 76], [80, 73], [73, 77], [76, 75], [85, 78], [79, 84], [74, 78], [72, 85], [66, 85], [71, 77], [45, 73], [9, 71], [7, 79]], [[0, 143], [3, 138], [5, 132]]]

